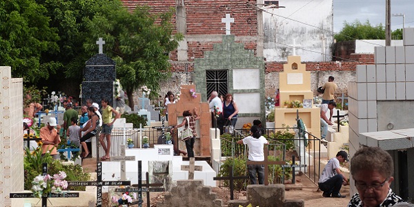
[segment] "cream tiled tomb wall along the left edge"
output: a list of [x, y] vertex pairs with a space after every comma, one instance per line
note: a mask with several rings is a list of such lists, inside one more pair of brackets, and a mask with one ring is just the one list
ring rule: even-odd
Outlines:
[[[23, 79], [12, 79], [0, 66], [0, 206], [11, 206], [9, 193], [23, 191]], [[23, 206], [24, 199], [13, 201]]]

